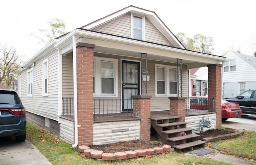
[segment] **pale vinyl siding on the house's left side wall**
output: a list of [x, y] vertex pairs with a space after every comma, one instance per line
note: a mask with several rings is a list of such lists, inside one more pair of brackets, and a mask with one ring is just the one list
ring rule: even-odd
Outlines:
[[[42, 96], [42, 62], [48, 59], [48, 97]], [[33, 68], [33, 97], [22, 97], [26, 111], [58, 121], [58, 50], [35, 62]], [[22, 83], [27, 80], [22, 74]], [[22, 87], [22, 94], [24, 89]]]

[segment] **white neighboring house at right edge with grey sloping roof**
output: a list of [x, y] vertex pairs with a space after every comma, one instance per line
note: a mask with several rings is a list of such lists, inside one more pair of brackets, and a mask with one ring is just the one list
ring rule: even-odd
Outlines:
[[245, 90], [256, 89], [256, 54], [248, 56], [229, 50], [223, 63], [222, 97], [236, 97]]

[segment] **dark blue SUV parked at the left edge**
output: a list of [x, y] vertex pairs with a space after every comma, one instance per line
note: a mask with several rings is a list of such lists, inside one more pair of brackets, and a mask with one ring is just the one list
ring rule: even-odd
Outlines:
[[0, 89], [0, 137], [15, 136], [16, 141], [25, 141], [26, 122], [26, 109], [18, 93]]

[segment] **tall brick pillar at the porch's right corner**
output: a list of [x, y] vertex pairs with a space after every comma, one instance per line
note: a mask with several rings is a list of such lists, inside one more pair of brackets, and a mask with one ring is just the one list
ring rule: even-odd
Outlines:
[[208, 97], [214, 98], [213, 109], [216, 111], [216, 128], [221, 127], [221, 64], [208, 65]]

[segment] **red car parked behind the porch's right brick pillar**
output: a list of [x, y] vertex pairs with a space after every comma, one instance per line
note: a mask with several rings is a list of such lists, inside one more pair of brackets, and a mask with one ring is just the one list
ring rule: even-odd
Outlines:
[[[208, 107], [208, 96], [190, 96], [190, 109], [208, 110]], [[221, 101], [221, 112], [222, 120], [242, 116], [239, 103], [230, 103], [224, 99]]]

